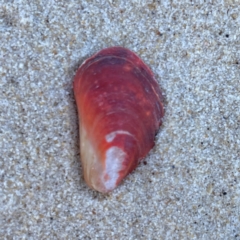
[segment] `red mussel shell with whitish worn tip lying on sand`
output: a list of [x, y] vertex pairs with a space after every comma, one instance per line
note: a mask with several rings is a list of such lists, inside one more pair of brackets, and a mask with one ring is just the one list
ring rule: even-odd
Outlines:
[[152, 71], [123, 47], [101, 50], [78, 69], [73, 83], [84, 179], [113, 190], [154, 146], [164, 115]]

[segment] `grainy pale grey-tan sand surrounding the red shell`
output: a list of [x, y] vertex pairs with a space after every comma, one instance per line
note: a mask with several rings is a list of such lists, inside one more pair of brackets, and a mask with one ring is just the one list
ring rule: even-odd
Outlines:
[[[72, 82], [123, 46], [165, 98], [155, 147], [113, 192], [82, 179]], [[240, 5], [0, 0], [1, 239], [240, 239]]]

